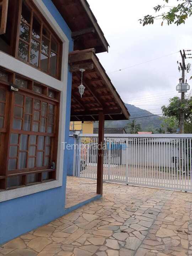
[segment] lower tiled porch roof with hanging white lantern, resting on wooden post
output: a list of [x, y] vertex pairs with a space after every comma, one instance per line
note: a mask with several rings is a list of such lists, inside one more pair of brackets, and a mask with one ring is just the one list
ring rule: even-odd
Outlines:
[[[113, 86], [105, 69], [95, 54], [95, 49], [69, 53], [70, 71], [73, 72], [71, 92], [71, 121], [98, 121], [103, 111], [105, 120], [127, 120], [129, 112]], [[80, 68], [85, 68], [82, 98], [78, 86], [81, 83]]]

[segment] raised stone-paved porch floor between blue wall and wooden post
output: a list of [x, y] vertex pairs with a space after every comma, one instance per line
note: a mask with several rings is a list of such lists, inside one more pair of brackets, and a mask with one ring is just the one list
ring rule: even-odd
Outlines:
[[68, 176], [66, 182], [65, 208], [69, 208], [97, 196], [96, 190], [97, 181]]

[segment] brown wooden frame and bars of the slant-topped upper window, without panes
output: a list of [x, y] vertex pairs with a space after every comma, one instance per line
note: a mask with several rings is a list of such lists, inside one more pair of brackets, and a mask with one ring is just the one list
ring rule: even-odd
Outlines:
[[[27, 23], [26, 21], [23, 21], [21, 18], [21, 12], [22, 12], [22, 0], [19, 0], [19, 11], [18, 11], [18, 31], [17, 31], [17, 39], [16, 39], [16, 53], [15, 53], [15, 57], [19, 60], [21, 60], [22, 62], [32, 66], [33, 68], [36, 68], [38, 70], [41, 70], [43, 73], [48, 74], [56, 79], [61, 79], [61, 66], [62, 66], [62, 42], [60, 40], [60, 38], [57, 36], [57, 34], [55, 34], [55, 32], [53, 31], [53, 29], [50, 27], [50, 25], [48, 24], [48, 22], [45, 20], [45, 18], [43, 17], [43, 15], [39, 12], [39, 10], [37, 10], [36, 6], [34, 6], [34, 4], [32, 3], [31, 0], [25, 0], [27, 6], [29, 9], [31, 9], [31, 21], [30, 23]], [[40, 31], [40, 38], [34, 38], [32, 37], [32, 25], [33, 25], [33, 16], [35, 16], [38, 20], [38, 22], [41, 25], [41, 31]], [[20, 38], [20, 24], [21, 22], [25, 23], [25, 25], [30, 27], [30, 38], [29, 38], [29, 42], [23, 40], [22, 38]], [[49, 38], [47, 38], [46, 36], [44, 36], [42, 34], [43, 31], [43, 27], [46, 28], [46, 30], [49, 32]], [[49, 40], [49, 54], [46, 55], [43, 51], [42, 51], [42, 37], [45, 37], [46, 39]], [[55, 52], [53, 49], [51, 49], [51, 39], [53, 38], [53, 40], [57, 43], [57, 52]], [[30, 63], [30, 52], [31, 52], [31, 40], [35, 40], [39, 43], [39, 57], [38, 57], [38, 66], [33, 65]], [[19, 47], [19, 41], [22, 41], [23, 43], [25, 43], [26, 45], [28, 45], [29, 49], [28, 49], [28, 57], [27, 57], [27, 61], [24, 60], [23, 58], [20, 58], [18, 56], [18, 47]], [[51, 75], [50, 74], [50, 54], [51, 52], [53, 52], [54, 54], [57, 55], [57, 66], [56, 66], [56, 75]], [[44, 56], [48, 57], [48, 71], [44, 71], [41, 68], [41, 54], [43, 54]]]

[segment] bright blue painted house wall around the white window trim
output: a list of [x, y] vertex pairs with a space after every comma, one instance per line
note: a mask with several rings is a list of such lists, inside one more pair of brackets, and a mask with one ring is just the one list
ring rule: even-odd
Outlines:
[[[69, 38], [70, 48], [73, 50], [73, 41], [71, 31], [66, 25], [62, 16], [59, 14], [51, 0], [43, 0], [63, 32]], [[67, 106], [66, 106], [66, 124], [65, 138], [69, 139], [69, 122], [70, 122], [70, 104], [71, 104], [71, 82], [72, 75], [68, 70], [67, 84]], [[65, 206], [65, 189], [66, 189], [66, 163], [68, 162], [68, 151], [64, 151], [64, 170], [63, 186], [34, 193], [29, 196], [20, 197], [0, 203], [0, 244], [5, 243], [18, 235], [42, 226], [66, 213]], [[73, 208], [68, 209], [73, 210]]]

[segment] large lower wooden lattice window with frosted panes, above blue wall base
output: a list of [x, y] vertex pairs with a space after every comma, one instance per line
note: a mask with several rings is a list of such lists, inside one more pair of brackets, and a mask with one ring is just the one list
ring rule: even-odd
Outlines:
[[0, 190], [55, 179], [59, 98], [54, 89], [0, 70]]

